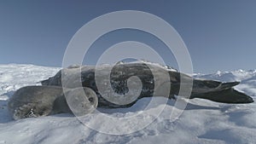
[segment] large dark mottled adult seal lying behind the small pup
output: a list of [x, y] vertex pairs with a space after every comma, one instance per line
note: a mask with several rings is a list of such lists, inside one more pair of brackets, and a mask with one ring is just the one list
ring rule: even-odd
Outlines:
[[[159, 64], [144, 62], [144, 61], [135, 61], [129, 63], [117, 63], [114, 66], [111, 65], [102, 65], [102, 66], [69, 66], [63, 68], [61, 71], [57, 72], [54, 77], [48, 78], [41, 82], [42, 85], [55, 85], [62, 86], [63, 82], [67, 88], [76, 88], [79, 87], [79, 84], [82, 83], [83, 87], [89, 87], [96, 92], [98, 96], [98, 107], [131, 107], [136, 101], [133, 101], [129, 104], [118, 105], [111, 101], [108, 101], [102, 96], [99, 92], [99, 87], [104, 87], [104, 84], [108, 84], [107, 80], [104, 79], [101, 81], [101, 85], [96, 85], [96, 68], [100, 77], [106, 77], [106, 73], [110, 73], [110, 84], [113, 91], [119, 95], [123, 95], [129, 92], [127, 86], [128, 78], [137, 76], [140, 78], [143, 87], [140, 95], [137, 97], [137, 100], [143, 97], [150, 97], [154, 95], [154, 87], [158, 85], [157, 89], [163, 89], [164, 87], [161, 84], [155, 84], [154, 79], [162, 78], [164, 73], [168, 73], [169, 79], [166, 83], [170, 85], [171, 88], [168, 95], [159, 95], [164, 96], [169, 99], [174, 98], [174, 95], [179, 95], [180, 86], [182, 84], [181, 79], [191, 80], [193, 82], [192, 92], [189, 99], [201, 98], [207, 99], [210, 101], [217, 101], [222, 103], [251, 103], [253, 98], [237, 91], [234, 89], [234, 86], [240, 84], [239, 82], [220, 82], [216, 80], [208, 79], [199, 79], [190, 77], [187, 74], [182, 72], [177, 72], [170, 68], [170, 66], [160, 66]], [[156, 77], [153, 75], [153, 72], [156, 73]], [[107, 76], [108, 77], [108, 76]], [[108, 77], [109, 78], [109, 77]], [[162, 78], [163, 79], [163, 78]], [[109, 79], [108, 79], [109, 80]], [[186, 82], [185, 82], [186, 83]], [[102, 85], [103, 84], [103, 85]], [[163, 85], [163, 84], [162, 84]], [[184, 84], [186, 85], [186, 84]], [[166, 89], [163, 89], [166, 90]], [[160, 90], [161, 91], [161, 90]], [[109, 89], [103, 91], [103, 95], [112, 95], [109, 93]], [[179, 95], [183, 96], [183, 95]]]

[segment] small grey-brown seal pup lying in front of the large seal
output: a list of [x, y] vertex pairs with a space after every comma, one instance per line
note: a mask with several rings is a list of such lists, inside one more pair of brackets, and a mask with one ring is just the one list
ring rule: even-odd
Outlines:
[[[71, 103], [69, 106], [66, 98], [79, 101], [79, 105]], [[63, 90], [58, 86], [26, 86], [18, 89], [9, 99], [8, 109], [12, 118], [16, 120], [57, 113], [83, 116], [93, 112], [97, 104], [96, 93], [90, 88]]]

